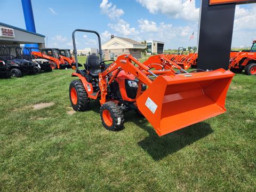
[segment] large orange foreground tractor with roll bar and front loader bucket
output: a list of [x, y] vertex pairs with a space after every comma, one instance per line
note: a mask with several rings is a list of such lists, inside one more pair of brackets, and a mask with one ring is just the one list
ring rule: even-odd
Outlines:
[[[89, 55], [84, 70], [77, 63], [77, 31], [94, 33], [99, 41], [100, 57]], [[78, 79], [69, 86], [71, 105], [76, 111], [85, 111], [90, 109], [91, 100], [99, 99], [102, 124], [107, 130], [121, 130], [124, 112], [129, 110], [139, 111], [159, 136], [226, 111], [226, 94], [234, 76], [231, 71], [188, 73], [159, 55], [147, 65], [129, 54], [120, 55], [116, 61], [103, 61], [97, 31], [76, 29], [72, 37], [76, 60], [72, 76]]]

